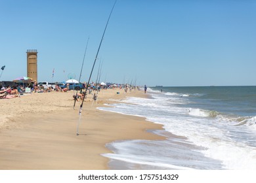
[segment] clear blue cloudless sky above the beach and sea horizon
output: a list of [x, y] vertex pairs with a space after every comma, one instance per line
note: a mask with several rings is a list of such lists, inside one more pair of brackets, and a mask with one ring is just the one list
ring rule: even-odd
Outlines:
[[[0, 80], [87, 81], [114, 0], [0, 0]], [[98, 58], [101, 81], [148, 86], [256, 85], [256, 1], [117, 0]], [[98, 59], [99, 60], [99, 59]], [[1, 70], [0, 70], [1, 71]], [[65, 71], [65, 73], [64, 73]], [[98, 62], [93, 80], [96, 79]]]

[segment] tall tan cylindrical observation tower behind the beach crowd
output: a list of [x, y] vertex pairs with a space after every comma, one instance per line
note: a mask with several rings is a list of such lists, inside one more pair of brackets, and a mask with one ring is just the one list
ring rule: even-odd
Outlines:
[[27, 76], [37, 82], [37, 50], [27, 50]]

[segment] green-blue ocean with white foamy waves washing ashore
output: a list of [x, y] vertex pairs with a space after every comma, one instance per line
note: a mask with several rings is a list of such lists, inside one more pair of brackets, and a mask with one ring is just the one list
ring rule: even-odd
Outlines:
[[[161, 92], [162, 90], [162, 92]], [[256, 169], [256, 86], [152, 87], [100, 110], [163, 125], [164, 141], [115, 141], [110, 169]]]

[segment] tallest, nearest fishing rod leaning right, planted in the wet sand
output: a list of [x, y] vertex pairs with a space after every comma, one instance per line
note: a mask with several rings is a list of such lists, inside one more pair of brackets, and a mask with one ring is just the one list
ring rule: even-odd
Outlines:
[[[116, 0], [116, 1], [117, 1], [117, 0]], [[80, 124], [80, 121], [81, 121], [81, 112], [82, 112], [82, 108], [83, 108], [83, 102], [85, 101], [85, 97], [86, 97], [86, 95], [87, 95], [87, 90], [88, 90], [88, 88], [89, 88], [89, 83], [90, 83], [90, 80], [91, 80], [91, 75], [93, 74], [93, 69], [95, 68], [96, 59], [98, 58], [98, 52], [100, 51], [100, 46], [101, 46], [101, 44], [102, 44], [102, 41], [103, 41], [103, 38], [104, 38], [104, 35], [105, 35], [105, 32], [106, 32], [106, 28], [108, 27], [108, 22], [110, 21], [111, 14], [112, 14], [113, 9], [114, 9], [114, 7], [115, 7], [115, 5], [116, 5], [116, 1], [115, 1], [114, 5], [113, 5], [113, 7], [112, 7], [112, 10], [111, 10], [111, 12], [110, 12], [110, 15], [108, 16], [108, 21], [106, 22], [106, 26], [105, 26], [105, 29], [104, 29], [102, 38], [101, 38], [101, 40], [100, 40], [100, 45], [98, 46], [98, 51], [97, 51], [97, 53], [96, 53], [95, 61], [94, 61], [94, 63], [93, 63], [93, 68], [91, 69], [91, 74], [90, 74], [90, 76], [89, 76], [89, 80], [88, 80], [87, 85], [86, 85], [86, 88], [85, 88], [85, 93], [84, 93], [84, 96], [83, 96], [83, 101], [82, 101], [82, 103], [81, 103], [81, 105], [80, 105], [80, 109], [79, 109], [79, 120], [78, 120], [78, 122], [77, 122], [76, 135], [79, 135], [79, 124]]]

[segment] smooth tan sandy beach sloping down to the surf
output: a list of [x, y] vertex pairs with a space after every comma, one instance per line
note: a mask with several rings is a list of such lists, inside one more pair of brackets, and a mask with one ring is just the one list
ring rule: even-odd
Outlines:
[[106, 143], [163, 139], [147, 131], [161, 129], [161, 125], [96, 109], [129, 96], [146, 97], [142, 91], [125, 93], [117, 89], [101, 91], [93, 106], [92, 96], [87, 97], [77, 136], [81, 101], [74, 110], [73, 94], [31, 93], [0, 100], [0, 169], [108, 169], [109, 159], [100, 155], [111, 153]]

